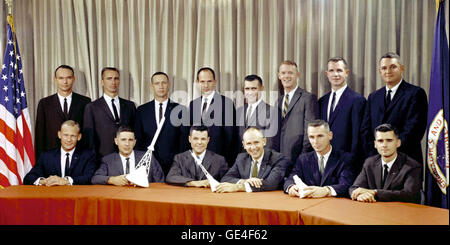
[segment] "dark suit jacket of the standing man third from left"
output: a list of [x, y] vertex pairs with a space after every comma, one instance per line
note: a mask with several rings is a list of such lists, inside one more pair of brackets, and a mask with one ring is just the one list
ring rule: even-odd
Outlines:
[[[166, 119], [153, 152], [161, 164], [164, 175], [167, 175], [169, 172], [173, 157], [184, 150], [185, 138], [187, 137], [187, 135], [182, 133], [181, 119], [178, 122], [172, 122], [172, 119], [175, 118], [175, 114], [171, 115], [172, 112], [178, 113], [178, 118], [182, 116], [187, 117], [187, 114], [185, 114], [187, 112], [186, 107], [171, 100], [168, 101], [164, 112]], [[151, 144], [158, 128], [156, 120], [159, 120], [159, 118], [155, 117], [155, 100], [137, 108], [134, 124], [134, 134], [137, 140], [135, 149], [147, 151], [147, 147]], [[179, 124], [177, 125], [177, 123]]]

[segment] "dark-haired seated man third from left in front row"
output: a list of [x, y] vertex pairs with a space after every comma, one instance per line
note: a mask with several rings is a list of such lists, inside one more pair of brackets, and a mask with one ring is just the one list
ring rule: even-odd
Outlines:
[[210, 139], [206, 126], [192, 126], [188, 139], [192, 150], [175, 155], [166, 182], [187, 187], [210, 187], [209, 180], [194, 156], [217, 181], [227, 172], [228, 164], [223, 156], [206, 149]]

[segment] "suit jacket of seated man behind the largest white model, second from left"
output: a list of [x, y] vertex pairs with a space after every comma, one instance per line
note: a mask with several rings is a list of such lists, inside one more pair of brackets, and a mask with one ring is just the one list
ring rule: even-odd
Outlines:
[[[139, 163], [144, 154], [144, 151], [134, 151], [135, 165]], [[109, 177], [119, 176], [123, 174], [124, 172], [120, 155], [119, 153], [114, 152], [102, 158], [100, 168], [95, 171], [91, 182], [93, 185], [106, 185], [108, 184]], [[152, 157], [152, 161], [150, 164], [148, 182], [164, 182], [164, 173], [158, 163], [158, 160], [156, 160], [154, 157]]]

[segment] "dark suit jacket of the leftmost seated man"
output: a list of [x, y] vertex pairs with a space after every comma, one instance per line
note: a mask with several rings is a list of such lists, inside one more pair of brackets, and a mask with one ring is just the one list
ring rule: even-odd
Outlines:
[[[74, 185], [88, 185], [94, 175], [95, 166], [95, 152], [77, 147], [72, 155], [69, 173], [66, 173], [66, 176], [73, 179]], [[23, 183], [32, 185], [39, 177], [48, 178], [51, 175], [60, 177], [62, 175], [60, 147], [42, 152], [36, 165], [23, 179]]]

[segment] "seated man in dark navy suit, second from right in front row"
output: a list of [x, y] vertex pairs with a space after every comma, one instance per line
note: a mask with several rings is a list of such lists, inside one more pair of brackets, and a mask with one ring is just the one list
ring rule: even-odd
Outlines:
[[297, 175], [308, 186], [304, 189], [305, 197], [347, 196], [354, 180], [351, 155], [333, 149], [330, 144], [333, 132], [327, 122], [310, 122], [307, 132], [314, 151], [303, 153], [297, 158], [284, 183], [285, 193], [300, 196], [298, 186], [294, 183], [294, 176]]

